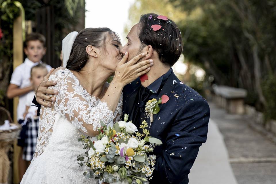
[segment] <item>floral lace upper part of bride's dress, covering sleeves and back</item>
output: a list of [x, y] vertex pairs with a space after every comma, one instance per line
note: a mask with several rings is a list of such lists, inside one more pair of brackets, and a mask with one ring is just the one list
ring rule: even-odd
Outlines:
[[114, 118], [115, 122], [120, 120], [122, 114], [122, 95], [117, 109], [113, 113], [108, 109], [106, 102], [101, 102], [100, 99], [90, 95], [83, 89], [79, 80], [70, 70], [61, 67], [51, 74], [49, 80], [57, 81], [57, 85], [51, 86], [49, 89], [57, 90], [58, 95], [54, 95], [56, 101], [51, 108], [41, 108], [34, 159], [41, 155], [47, 147], [53, 133], [55, 117], [58, 113], [71, 122], [76, 129], [86, 134], [88, 126], [92, 125], [95, 131], [101, 126], [101, 121], [104, 124], [108, 124]]

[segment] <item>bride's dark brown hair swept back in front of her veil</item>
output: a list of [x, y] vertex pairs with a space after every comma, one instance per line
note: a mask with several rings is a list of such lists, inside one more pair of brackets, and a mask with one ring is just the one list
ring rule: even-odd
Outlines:
[[[86, 53], [87, 45], [94, 47], [104, 47], [106, 50], [105, 41], [108, 35], [114, 37], [110, 28], [85, 28], [81, 30], [72, 46], [70, 57], [67, 61], [66, 68], [69, 70], [80, 71], [89, 59]], [[116, 34], [115, 34], [116, 36]]]

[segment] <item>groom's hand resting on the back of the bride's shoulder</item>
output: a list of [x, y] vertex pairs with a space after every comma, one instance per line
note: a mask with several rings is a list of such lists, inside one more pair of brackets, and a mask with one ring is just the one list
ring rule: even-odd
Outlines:
[[37, 91], [35, 93], [36, 100], [39, 104], [45, 107], [51, 107], [52, 101], [55, 101], [54, 97], [49, 97], [48, 95], [57, 95], [57, 91], [53, 89], [47, 89], [49, 86], [54, 86], [57, 84], [56, 81], [48, 81], [49, 76], [55, 69], [52, 68], [50, 72], [44, 77], [44, 80], [40, 83]]

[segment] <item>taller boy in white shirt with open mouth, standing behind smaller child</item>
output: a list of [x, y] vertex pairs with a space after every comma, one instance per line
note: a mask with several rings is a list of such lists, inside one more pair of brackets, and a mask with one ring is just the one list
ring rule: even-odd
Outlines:
[[[24, 53], [27, 55], [24, 63], [15, 68], [11, 76], [11, 81], [7, 89], [7, 97], [12, 99], [19, 96], [19, 103], [17, 106], [17, 120], [19, 123], [24, 122], [23, 114], [25, 112], [26, 96], [34, 88], [30, 82], [30, 71], [31, 68], [39, 63], [42, 63], [41, 59], [46, 53], [45, 48], [46, 39], [42, 34], [31, 33], [26, 36], [26, 41], [24, 43]], [[46, 65], [47, 70], [51, 70], [51, 66]], [[18, 140], [18, 145], [24, 147], [24, 137], [23, 140]], [[22, 151], [19, 157], [19, 175], [20, 178], [23, 177], [27, 162], [22, 159]]]

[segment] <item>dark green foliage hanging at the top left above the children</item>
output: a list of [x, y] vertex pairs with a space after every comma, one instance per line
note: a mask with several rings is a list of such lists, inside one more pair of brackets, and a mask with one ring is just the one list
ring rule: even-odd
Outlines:
[[[13, 22], [19, 16], [19, 8], [14, 0], [0, 0], [0, 28], [3, 36], [0, 38], [0, 106], [9, 109], [5, 98], [7, 86], [12, 72], [13, 55]], [[43, 7], [53, 7], [55, 34], [53, 39], [56, 57], [59, 58], [61, 41], [64, 35], [79, 22], [80, 8], [85, 5], [84, 0], [18, 0], [25, 10], [25, 20], [36, 21], [36, 14]], [[34, 25], [33, 31], [35, 31]], [[23, 62], [23, 61], [22, 61]]]

